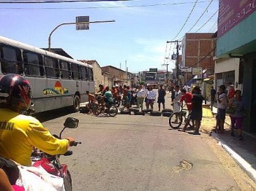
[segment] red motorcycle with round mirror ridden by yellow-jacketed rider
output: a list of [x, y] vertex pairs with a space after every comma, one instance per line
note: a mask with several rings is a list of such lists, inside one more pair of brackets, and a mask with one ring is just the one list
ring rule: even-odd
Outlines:
[[[67, 117], [64, 122], [64, 128], [61, 130], [61, 133], [64, 131], [65, 128], [78, 128], [78, 119], [73, 117]], [[59, 136], [53, 135], [58, 139], [61, 139], [61, 133]], [[74, 142], [71, 147], [76, 147], [81, 142]], [[67, 151], [63, 154], [64, 156], [72, 155], [72, 151]], [[33, 152], [31, 153], [31, 161], [33, 163], [32, 166], [39, 167], [45, 169], [49, 174], [53, 174], [55, 176], [59, 176], [64, 180], [64, 188], [66, 191], [72, 191], [72, 179], [67, 169], [66, 164], [61, 164], [59, 158], [61, 155], [48, 155], [45, 152], [40, 151], [37, 148], [34, 148]]]

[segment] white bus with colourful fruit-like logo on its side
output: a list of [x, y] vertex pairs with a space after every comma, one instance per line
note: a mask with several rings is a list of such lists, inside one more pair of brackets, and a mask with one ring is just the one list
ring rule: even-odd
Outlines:
[[78, 112], [94, 93], [92, 66], [0, 36], [0, 77], [20, 74], [31, 83], [36, 112], [71, 106]]

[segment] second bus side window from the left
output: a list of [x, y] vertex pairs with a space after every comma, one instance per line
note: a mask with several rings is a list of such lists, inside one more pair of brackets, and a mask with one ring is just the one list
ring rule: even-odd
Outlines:
[[42, 55], [23, 50], [24, 73], [27, 76], [44, 77]]

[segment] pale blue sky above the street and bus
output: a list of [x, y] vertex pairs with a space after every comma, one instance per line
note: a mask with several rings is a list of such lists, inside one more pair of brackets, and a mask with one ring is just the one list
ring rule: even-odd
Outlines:
[[91, 23], [87, 31], [76, 31], [75, 25], [61, 26], [51, 37], [51, 47], [62, 48], [77, 60], [96, 60], [100, 66], [120, 68], [121, 63], [121, 69], [125, 70], [127, 63], [130, 72], [166, 69], [164, 63], [169, 63], [171, 70], [174, 63], [165, 57], [169, 52], [173, 54], [174, 44], [166, 42], [181, 39], [189, 30], [215, 32], [217, 14], [214, 13], [218, 6], [217, 0], [0, 4], [0, 35], [34, 47], [48, 47], [53, 28], [75, 22], [77, 16], [89, 16], [90, 21], [116, 20]]

